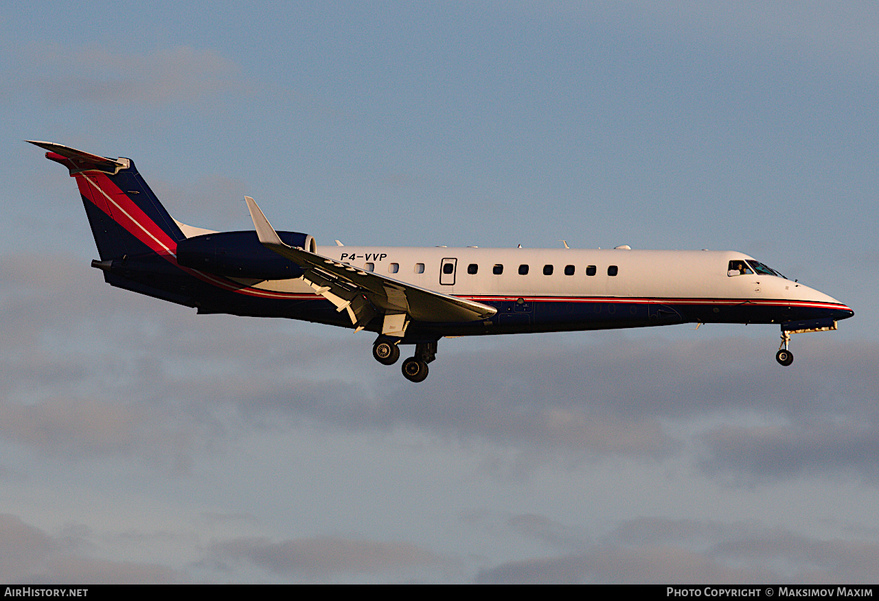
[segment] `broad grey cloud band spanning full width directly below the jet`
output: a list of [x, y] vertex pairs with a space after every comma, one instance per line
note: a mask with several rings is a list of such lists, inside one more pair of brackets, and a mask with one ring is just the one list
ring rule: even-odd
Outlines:
[[876, 476], [879, 346], [837, 334], [810, 335], [784, 370], [771, 348], [733, 337], [442, 341], [413, 387], [374, 363], [366, 335], [195, 315], [105, 286], [69, 257], [0, 257], [0, 286], [0, 436], [56, 453], [175, 449], [185, 464], [202, 446], [307, 421], [573, 458], [661, 460], [695, 443], [707, 474]]

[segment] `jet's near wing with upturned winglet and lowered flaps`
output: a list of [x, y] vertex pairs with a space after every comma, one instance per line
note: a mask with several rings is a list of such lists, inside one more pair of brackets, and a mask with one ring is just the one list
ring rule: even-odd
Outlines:
[[305, 270], [302, 279], [336, 305], [347, 310], [362, 329], [376, 315], [384, 315], [382, 334], [403, 337], [409, 320], [418, 322], [475, 322], [495, 315], [498, 309], [473, 300], [433, 292], [396, 279], [367, 272], [330, 257], [283, 243], [257, 203], [245, 196], [259, 242]]

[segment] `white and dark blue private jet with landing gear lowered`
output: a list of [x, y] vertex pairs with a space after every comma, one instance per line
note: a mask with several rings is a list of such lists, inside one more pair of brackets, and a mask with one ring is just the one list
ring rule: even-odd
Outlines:
[[45, 141], [76, 179], [106, 283], [199, 314], [286, 317], [377, 334], [373, 356], [425, 380], [441, 337], [774, 323], [790, 335], [837, 329], [839, 300], [733, 250], [317, 246], [276, 231], [251, 197], [253, 230], [215, 232], [171, 217], [128, 158]]

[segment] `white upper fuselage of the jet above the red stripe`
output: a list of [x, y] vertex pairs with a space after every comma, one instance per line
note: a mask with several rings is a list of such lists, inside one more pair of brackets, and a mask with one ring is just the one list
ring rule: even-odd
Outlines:
[[[788, 300], [841, 304], [809, 286], [774, 275], [730, 276], [727, 267], [731, 260], [752, 258], [732, 250], [319, 246], [317, 254], [472, 300]], [[446, 263], [453, 265], [446, 268], [451, 273], [443, 273]], [[476, 265], [476, 273], [469, 272], [473, 271], [471, 265]], [[495, 273], [496, 265], [503, 266], [499, 274]], [[521, 265], [527, 265], [524, 275], [519, 273]], [[545, 274], [545, 269], [550, 271], [548, 265], [551, 273]], [[613, 267], [616, 275], [609, 275]], [[592, 271], [594, 275], [587, 275]], [[309, 286], [295, 279], [266, 281], [257, 287], [310, 292]]]

